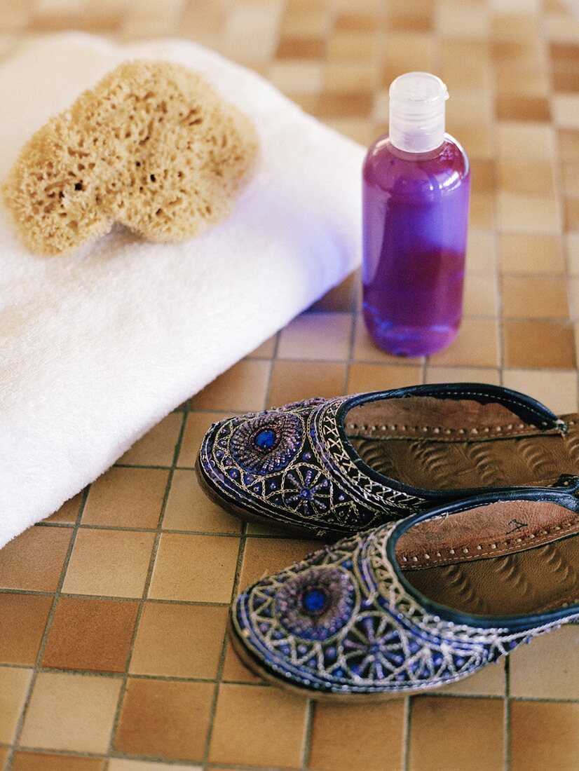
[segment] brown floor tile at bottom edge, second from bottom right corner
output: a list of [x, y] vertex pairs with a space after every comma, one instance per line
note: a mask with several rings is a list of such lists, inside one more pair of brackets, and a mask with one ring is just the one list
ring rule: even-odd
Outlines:
[[308, 766], [316, 771], [399, 769], [405, 711], [404, 699], [367, 705], [317, 702]]

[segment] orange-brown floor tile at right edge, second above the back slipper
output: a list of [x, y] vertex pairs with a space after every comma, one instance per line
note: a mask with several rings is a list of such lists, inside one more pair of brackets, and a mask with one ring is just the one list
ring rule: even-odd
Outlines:
[[561, 322], [503, 322], [504, 361], [507, 367], [573, 369], [573, 327]]

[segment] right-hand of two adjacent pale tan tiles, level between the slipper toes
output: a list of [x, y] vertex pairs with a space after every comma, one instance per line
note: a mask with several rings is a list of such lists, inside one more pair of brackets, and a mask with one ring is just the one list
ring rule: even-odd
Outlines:
[[149, 597], [229, 602], [238, 551], [235, 537], [163, 533]]

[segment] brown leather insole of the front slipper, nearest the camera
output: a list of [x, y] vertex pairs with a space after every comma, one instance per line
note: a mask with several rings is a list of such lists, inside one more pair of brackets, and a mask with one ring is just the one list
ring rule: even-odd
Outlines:
[[502, 501], [429, 520], [402, 535], [396, 556], [412, 586], [463, 613], [579, 601], [579, 514], [556, 503]]

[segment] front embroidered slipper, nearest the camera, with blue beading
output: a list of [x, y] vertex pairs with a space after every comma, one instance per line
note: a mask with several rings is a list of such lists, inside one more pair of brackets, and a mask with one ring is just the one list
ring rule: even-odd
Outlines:
[[579, 500], [486, 494], [327, 546], [231, 608], [241, 659], [315, 699], [383, 699], [473, 675], [579, 619]]

